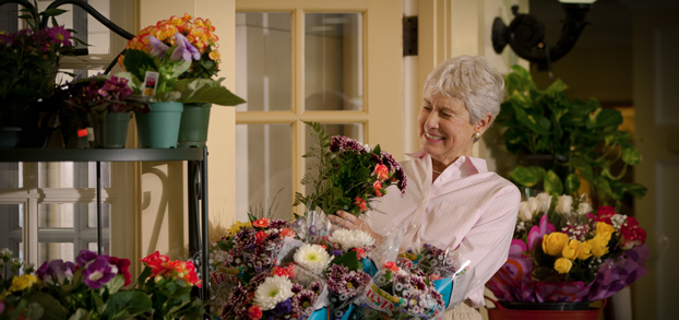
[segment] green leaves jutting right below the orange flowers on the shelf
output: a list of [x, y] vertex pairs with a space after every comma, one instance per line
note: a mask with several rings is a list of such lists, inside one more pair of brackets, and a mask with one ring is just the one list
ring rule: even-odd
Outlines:
[[175, 84], [175, 90], [181, 92], [182, 103], [236, 106], [246, 102], [222, 86], [221, 81], [212, 79], [182, 79]]

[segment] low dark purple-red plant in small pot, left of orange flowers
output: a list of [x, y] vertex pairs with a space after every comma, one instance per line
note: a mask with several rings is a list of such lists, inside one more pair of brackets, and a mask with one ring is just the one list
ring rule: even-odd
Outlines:
[[70, 82], [70, 97], [65, 100], [69, 109], [99, 117], [107, 112], [150, 112], [148, 104], [132, 95], [131, 76], [102, 74]]

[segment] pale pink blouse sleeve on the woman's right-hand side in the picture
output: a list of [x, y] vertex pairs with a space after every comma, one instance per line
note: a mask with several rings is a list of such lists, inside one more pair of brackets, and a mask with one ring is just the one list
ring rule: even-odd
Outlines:
[[472, 278], [467, 298], [477, 308], [486, 305], [486, 282], [507, 261], [520, 203], [521, 193], [516, 187], [512, 185], [503, 188], [454, 250], [454, 253], [460, 254], [458, 260], [470, 262]]

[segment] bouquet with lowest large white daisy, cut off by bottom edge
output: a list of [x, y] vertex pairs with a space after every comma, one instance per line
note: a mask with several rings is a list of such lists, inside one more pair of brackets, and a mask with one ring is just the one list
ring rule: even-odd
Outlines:
[[295, 268], [274, 266], [239, 284], [222, 307], [222, 319], [307, 319], [322, 297], [321, 280], [297, 281]]

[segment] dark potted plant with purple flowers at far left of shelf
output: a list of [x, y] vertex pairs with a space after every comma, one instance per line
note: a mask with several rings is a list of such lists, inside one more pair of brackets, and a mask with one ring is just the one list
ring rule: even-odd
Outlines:
[[[40, 147], [51, 129], [40, 126], [41, 111], [55, 112], [55, 79], [60, 60], [74, 55], [70, 31], [55, 16], [65, 12], [49, 9], [37, 12], [25, 8], [20, 17], [29, 27], [11, 34], [0, 33], [0, 128], [3, 147]], [[41, 19], [52, 19], [51, 27], [40, 28]], [[45, 119], [49, 117], [43, 117]]]

